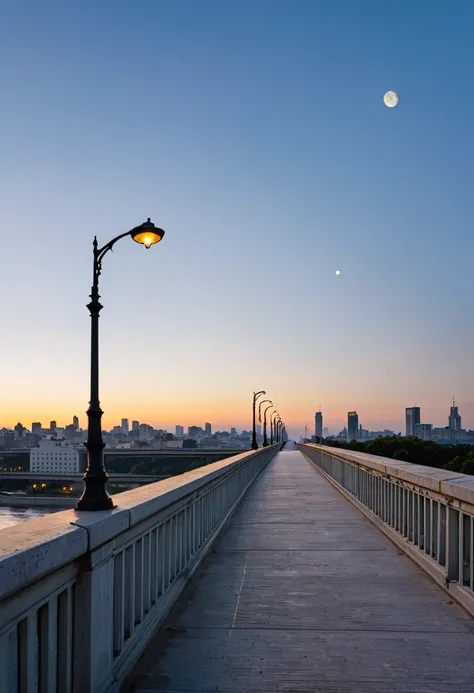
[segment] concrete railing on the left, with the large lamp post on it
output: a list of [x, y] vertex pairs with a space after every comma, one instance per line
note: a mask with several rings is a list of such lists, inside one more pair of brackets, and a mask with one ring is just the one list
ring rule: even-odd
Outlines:
[[118, 690], [279, 447], [0, 532], [1, 693]]

